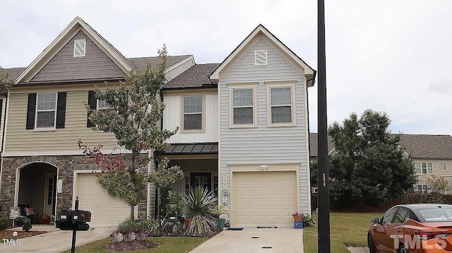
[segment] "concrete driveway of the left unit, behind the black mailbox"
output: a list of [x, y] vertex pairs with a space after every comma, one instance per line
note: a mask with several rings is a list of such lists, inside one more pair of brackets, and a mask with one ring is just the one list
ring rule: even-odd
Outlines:
[[[13, 230], [22, 230], [22, 228], [12, 229], [11, 239], [13, 238]], [[21, 238], [20, 245], [5, 245], [0, 242], [0, 252], [55, 253], [71, 249], [72, 231], [61, 231], [58, 228], [54, 228], [54, 225], [33, 225], [31, 230], [49, 231], [49, 233]], [[76, 246], [104, 239], [109, 237], [111, 233], [111, 228], [91, 228], [88, 231], [77, 231]]]

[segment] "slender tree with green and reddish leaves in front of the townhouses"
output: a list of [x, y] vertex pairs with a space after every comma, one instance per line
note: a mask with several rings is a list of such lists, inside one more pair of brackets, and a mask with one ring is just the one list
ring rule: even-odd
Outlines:
[[146, 153], [162, 151], [165, 141], [176, 134], [178, 129], [162, 129], [161, 122], [165, 105], [160, 92], [165, 83], [167, 50], [159, 50], [160, 64], [156, 68], [148, 63], [145, 73], [134, 69], [125, 83], [108, 86], [105, 91], [96, 88], [95, 97], [104, 100], [107, 109], [90, 110], [89, 119], [95, 127], [114, 134], [121, 147], [119, 155], [104, 154], [102, 144], [90, 148], [81, 139], [79, 148], [95, 159], [95, 163], [105, 169], [98, 181], [107, 192], [124, 199], [131, 207], [130, 218], [134, 218], [133, 208], [140, 204], [147, 183], [152, 182], [157, 189], [167, 187], [183, 177], [179, 166], [168, 167], [169, 160], [161, 160], [155, 172], [145, 174], [150, 162]]

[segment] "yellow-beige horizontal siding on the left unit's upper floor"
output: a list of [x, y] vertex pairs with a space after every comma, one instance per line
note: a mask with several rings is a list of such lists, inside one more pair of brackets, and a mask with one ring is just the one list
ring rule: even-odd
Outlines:
[[[8, 124], [6, 128], [5, 153], [81, 153], [77, 141], [81, 137], [90, 146], [102, 143], [104, 151], [114, 148], [116, 140], [112, 134], [93, 131], [86, 127], [87, 111], [84, 102], [88, 101], [88, 90], [94, 86], [59, 86], [47, 88], [15, 90], [10, 93]], [[66, 119], [64, 129], [55, 131], [34, 131], [25, 129], [28, 93], [66, 91]]]

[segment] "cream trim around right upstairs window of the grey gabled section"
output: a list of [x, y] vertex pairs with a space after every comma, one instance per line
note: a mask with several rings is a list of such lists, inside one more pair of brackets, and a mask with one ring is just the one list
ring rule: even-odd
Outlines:
[[[267, 86], [267, 126], [268, 127], [295, 127], [297, 125], [297, 110], [295, 108], [295, 83], [296, 81], [280, 81], [280, 82], [266, 82]], [[290, 88], [292, 112], [292, 122], [290, 123], [272, 123], [271, 122], [271, 89], [272, 88]]]

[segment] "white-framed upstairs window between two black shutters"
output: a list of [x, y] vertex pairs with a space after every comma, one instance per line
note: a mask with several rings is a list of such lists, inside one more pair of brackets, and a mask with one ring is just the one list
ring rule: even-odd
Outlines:
[[36, 128], [54, 128], [57, 119], [57, 93], [39, 93], [36, 103]]

